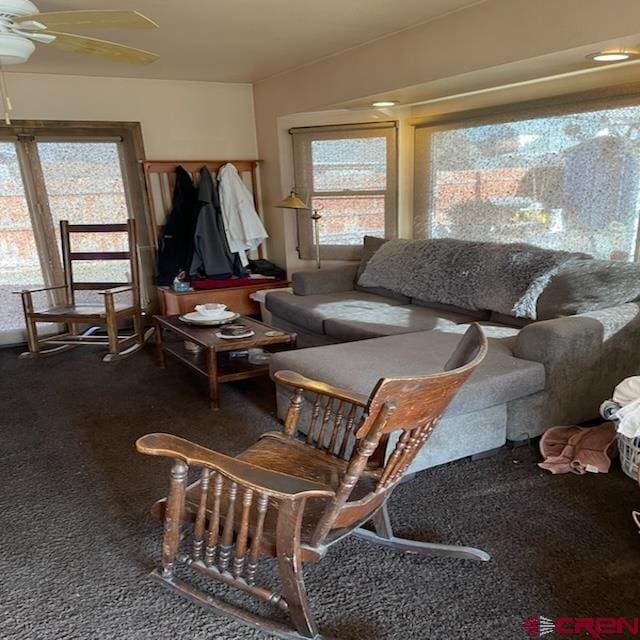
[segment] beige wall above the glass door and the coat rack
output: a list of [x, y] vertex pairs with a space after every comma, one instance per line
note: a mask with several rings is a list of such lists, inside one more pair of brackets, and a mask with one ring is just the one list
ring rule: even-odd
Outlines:
[[15, 119], [142, 124], [152, 160], [257, 157], [248, 84], [7, 73]]

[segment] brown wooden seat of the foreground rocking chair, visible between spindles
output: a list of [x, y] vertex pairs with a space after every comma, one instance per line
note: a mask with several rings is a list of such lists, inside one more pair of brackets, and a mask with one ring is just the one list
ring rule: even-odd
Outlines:
[[[345, 473], [348, 463], [340, 458], [328, 456], [326, 453], [315, 447], [305, 444], [299, 440], [293, 440], [280, 432], [269, 432], [264, 434], [254, 445], [237, 456], [239, 460], [268, 469], [286, 473], [291, 476], [318, 482], [332, 489], [340, 486], [342, 475]], [[378, 474], [365, 472], [354, 487], [351, 501], [358, 500], [359, 497], [370, 494], [375, 488]], [[208, 494], [207, 520], [211, 513], [214, 496], [213, 492]], [[200, 503], [200, 482], [192, 484], [186, 493], [186, 511], [195, 519], [198, 505]], [[275, 503], [274, 503], [275, 504]], [[313, 498], [307, 501], [302, 529], [300, 535], [301, 543], [307, 544], [311, 541], [311, 536], [322, 517], [327, 506], [327, 499]], [[228, 494], [221, 496], [220, 513], [224, 519], [224, 514], [229, 508]], [[242, 514], [242, 499], [238, 497], [234, 509], [234, 524], [239, 526]], [[158, 514], [159, 515], [159, 514]], [[257, 513], [253, 513], [249, 521], [249, 537], [253, 537], [255, 531]], [[277, 508], [270, 508], [267, 511], [262, 533], [263, 553], [276, 555], [276, 525], [278, 520]], [[318, 554], [303, 554], [303, 561], [309, 562], [317, 559]]]

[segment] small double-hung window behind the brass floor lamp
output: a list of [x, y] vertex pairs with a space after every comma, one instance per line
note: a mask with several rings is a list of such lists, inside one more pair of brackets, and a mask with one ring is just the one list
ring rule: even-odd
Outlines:
[[[295, 188], [322, 215], [323, 258], [356, 258], [365, 235], [397, 229], [396, 125], [292, 129]], [[313, 257], [309, 211], [298, 214], [299, 252]]]

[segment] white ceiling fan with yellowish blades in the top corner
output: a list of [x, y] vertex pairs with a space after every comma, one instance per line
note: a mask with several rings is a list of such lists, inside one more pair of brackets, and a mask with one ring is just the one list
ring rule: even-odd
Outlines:
[[68, 33], [82, 29], [156, 29], [158, 25], [137, 11], [89, 10], [40, 13], [30, 0], [0, 0], [0, 65], [26, 62], [36, 45], [128, 62], [149, 64], [158, 56], [108, 40]]

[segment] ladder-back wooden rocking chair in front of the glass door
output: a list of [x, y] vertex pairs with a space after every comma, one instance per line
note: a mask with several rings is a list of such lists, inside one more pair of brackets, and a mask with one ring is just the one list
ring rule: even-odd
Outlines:
[[[73, 234], [102, 233], [126, 234], [127, 250], [73, 251], [71, 241]], [[135, 353], [144, 345], [144, 331], [134, 221], [129, 220], [123, 224], [69, 224], [67, 220], [61, 220], [60, 236], [64, 284], [17, 292], [22, 296], [29, 348], [20, 357], [51, 355], [73, 349], [78, 345], [96, 344], [108, 346], [109, 353], [103, 358], [105, 362], [112, 362]], [[130, 279], [128, 282], [77, 282], [73, 272], [74, 262], [87, 260], [96, 262], [128, 260]], [[92, 290], [103, 296], [102, 303], [76, 302], [77, 291]], [[35, 309], [32, 294], [42, 291], [53, 292], [54, 299], [59, 301], [59, 304]], [[129, 294], [130, 300], [118, 301], [118, 298], [125, 293]], [[121, 297], [120, 300], [122, 300]], [[133, 333], [120, 335], [118, 325], [127, 320], [133, 324]], [[60, 334], [40, 338], [37, 325], [41, 322], [64, 324], [66, 330]], [[86, 328], [86, 325], [90, 326]], [[106, 336], [94, 335], [102, 328], [106, 329]]]

